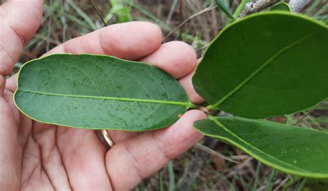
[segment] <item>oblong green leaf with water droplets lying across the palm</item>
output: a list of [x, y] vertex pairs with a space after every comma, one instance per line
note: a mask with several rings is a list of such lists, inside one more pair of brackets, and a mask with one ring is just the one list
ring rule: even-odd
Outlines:
[[178, 81], [163, 70], [92, 54], [29, 61], [19, 72], [15, 103], [43, 123], [129, 131], [172, 125], [192, 107]]

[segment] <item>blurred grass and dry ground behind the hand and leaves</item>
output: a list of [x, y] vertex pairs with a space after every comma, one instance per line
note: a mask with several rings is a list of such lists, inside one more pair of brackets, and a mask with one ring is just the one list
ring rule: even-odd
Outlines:
[[[224, 1], [231, 12], [245, 2]], [[185, 41], [194, 47], [198, 57], [230, 22], [216, 7], [215, 0], [93, 0], [93, 3], [108, 25], [127, 21], [156, 23], [164, 37], [172, 32], [164, 42]], [[327, 0], [308, 0], [300, 12], [328, 23]], [[183, 21], [185, 24], [176, 28]], [[46, 0], [42, 25], [27, 43], [14, 72], [22, 63], [42, 56], [60, 43], [103, 26], [89, 0]], [[328, 101], [270, 120], [328, 130]], [[328, 190], [328, 183], [278, 172], [231, 145], [206, 138], [135, 190]]]

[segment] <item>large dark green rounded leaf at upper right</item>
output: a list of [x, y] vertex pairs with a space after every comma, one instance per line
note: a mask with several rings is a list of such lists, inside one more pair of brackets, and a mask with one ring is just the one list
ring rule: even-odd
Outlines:
[[192, 77], [210, 103], [239, 117], [309, 108], [328, 97], [327, 26], [300, 14], [251, 14], [212, 41]]

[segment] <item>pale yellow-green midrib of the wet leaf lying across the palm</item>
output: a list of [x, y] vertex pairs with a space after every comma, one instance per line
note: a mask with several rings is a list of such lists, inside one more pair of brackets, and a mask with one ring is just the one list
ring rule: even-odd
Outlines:
[[30, 92], [35, 94], [44, 94], [57, 97], [75, 97], [75, 98], [89, 98], [89, 99], [109, 99], [109, 100], [118, 100], [118, 101], [135, 101], [135, 102], [144, 102], [144, 103], [163, 103], [167, 105], [185, 105], [188, 108], [194, 107], [194, 104], [190, 102], [181, 102], [181, 101], [165, 101], [165, 100], [155, 100], [155, 99], [134, 99], [134, 98], [124, 98], [124, 97], [97, 97], [97, 96], [88, 96], [88, 95], [74, 95], [74, 94], [56, 94], [49, 92], [39, 92], [33, 90], [21, 90], [22, 92]]

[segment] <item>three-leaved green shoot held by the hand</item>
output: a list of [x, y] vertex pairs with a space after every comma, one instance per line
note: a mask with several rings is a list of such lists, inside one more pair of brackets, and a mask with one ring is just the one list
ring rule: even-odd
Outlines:
[[[192, 84], [208, 111], [233, 117], [208, 114], [194, 128], [283, 172], [328, 179], [327, 132], [266, 120], [327, 99], [328, 28], [286, 3], [272, 9], [233, 21], [210, 43]], [[201, 107], [163, 70], [94, 54], [28, 61], [15, 103], [42, 123], [125, 131], [165, 128]]]

